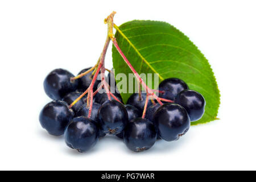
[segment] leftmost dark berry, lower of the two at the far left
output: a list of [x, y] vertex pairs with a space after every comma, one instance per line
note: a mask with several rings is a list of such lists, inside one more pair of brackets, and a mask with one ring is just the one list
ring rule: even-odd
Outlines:
[[64, 101], [52, 101], [43, 107], [39, 121], [49, 134], [60, 136], [64, 134], [65, 127], [74, 116], [74, 112], [68, 109]]

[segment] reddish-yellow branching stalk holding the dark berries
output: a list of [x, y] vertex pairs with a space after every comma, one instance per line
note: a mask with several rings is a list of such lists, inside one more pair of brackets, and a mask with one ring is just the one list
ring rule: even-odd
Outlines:
[[[90, 118], [90, 115], [92, 113], [92, 105], [93, 105], [93, 96], [95, 96], [95, 94], [98, 92], [98, 90], [100, 90], [102, 87], [106, 90], [106, 94], [108, 95], [108, 99], [111, 100], [111, 97], [114, 98], [114, 100], [117, 100], [118, 102], [120, 102], [118, 100], [117, 97], [114, 96], [113, 93], [110, 92], [109, 90], [109, 84], [106, 82], [105, 80], [105, 56], [106, 56], [106, 51], [108, 49], [110, 40], [113, 42], [115, 48], [117, 48], [117, 51], [119, 52], [119, 54], [122, 56], [123, 60], [125, 61], [125, 63], [129, 66], [129, 68], [131, 69], [131, 71], [134, 73], [134, 76], [137, 78], [138, 84], [139, 84], [139, 97], [141, 98], [141, 85], [143, 86], [143, 88], [146, 90], [147, 96], [146, 96], [146, 102], [144, 105], [144, 110], [143, 110], [143, 115], [142, 118], [144, 118], [145, 113], [146, 113], [146, 109], [147, 109], [147, 104], [148, 104], [148, 100], [150, 99], [150, 97], [154, 98], [156, 101], [159, 102], [160, 105], [163, 105], [162, 101], [165, 102], [174, 102], [171, 100], [167, 100], [164, 98], [160, 98], [158, 96], [156, 96], [156, 94], [154, 92], [159, 92], [161, 93], [162, 91], [159, 90], [152, 90], [150, 88], [148, 88], [148, 86], [146, 85], [146, 83], [142, 80], [142, 78], [139, 76], [139, 74], [137, 73], [137, 71], [135, 71], [135, 69], [133, 68], [133, 66], [131, 65], [130, 61], [126, 58], [126, 56], [123, 54], [121, 48], [118, 46], [117, 41], [114, 38], [114, 34], [113, 34], [113, 28], [117, 29], [118, 27], [113, 23], [113, 18], [115, 15], [115, 11], [113, 11], [112, 14], [110, 14], [105, 20], [104, 22], [106, 24], [108, 24], [108, 36], [106, 38], [106, 42], [104, 44], [104, 48], [103, 51], [101, 53], [100, 59], [97, 61], [97, 64], [94, 65], [94, 67], [90, 68], [88, 71], [81, 73], [80, 75], [71, 78], [71, 81], [76, 80], [77, 78], [81, 78], [82, 76], [85, 76], [86, 74], [90, 73], [91, 71], [93, 71], [92, 75], [93, 75], [93, 79], [92, 82], [90, 83], [90, 86], [88, 89], [85, 90], [84, 93], [81, 94], [80, 97], [78, 97], [71, 105], [69, 105], [69, 108], [71, 108], [73, 105], [76, 104], [77, 101], [79, 101], [82, 97], [85, 96], [85, 94], [88, 93], [88, 96], [86, 98], [87, 101], [87, 107], [89, 108], [89, 113], [88, 113], [88, 118]], [[109, 71], [109, 70], [108, 70]], [[96, 78], [98, 76], [98, 74], [101, 72], [101, 85], [100, 87], [93, 92], [93, 86], [96, 82]], [[110, 72], [110, 71], [109, 71]], [[153, 100], [151, 100], [153, 101]], [[155, 104], [155, 102], [153, 101], [153, 104]]]

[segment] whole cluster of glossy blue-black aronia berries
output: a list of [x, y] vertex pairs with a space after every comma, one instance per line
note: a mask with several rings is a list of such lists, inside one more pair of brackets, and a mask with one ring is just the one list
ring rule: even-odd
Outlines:
[[[88, 72], [83, 69], [81, 73]], [[107, 81], [114, 82], [109, 72]], [[159, 84], [159, 98], [169, 101], [163, 105], [148, 100], [146, 93], [134, 93], [126, 105], [118, 93], [109, 97], [96, 93], [88, 118], [86, 97], [71, 105], [92, 82], [93, 71], [76, 80], [64, 69], [55, 69], [44, 80], [44, 90], [54, 101], [44, 106], [39, 121], [49, 134], [64, 134], [65, 143], [79, 152], [92, 148], [106, 134], [122, 138], [126, 146], [135, 152], [148, 150], [156, 139], [173, 141], [184, 135], [192, 121], [204, 114], [204, 97], [189, 90], [179, 78], [167, 78]], [[95, 85], [93, 90], [97, 90]], [[146, 110], [145, 110], [146, 109]], [[143, 117], [142, 117], [143, 116]]]

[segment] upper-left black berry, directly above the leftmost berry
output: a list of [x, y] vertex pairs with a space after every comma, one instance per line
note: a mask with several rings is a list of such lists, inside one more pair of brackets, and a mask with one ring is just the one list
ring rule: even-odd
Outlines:
[[65, 69], [55, 69], [44, 80], [44, 91], [53, 100], [61, 100], [77, 88], [77, 81], [71, 81], [72, 73]]

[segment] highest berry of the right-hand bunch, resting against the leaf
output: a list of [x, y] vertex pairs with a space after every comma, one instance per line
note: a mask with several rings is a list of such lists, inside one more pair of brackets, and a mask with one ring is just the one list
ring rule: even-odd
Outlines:
[[164, 91], [164, 93], [159, 93], [159, 97], [174, 100], [177, 94], [185, 89], [188, 89], [188, 85], [183, 80], [167, 78], [159, 84], [159, 90]]

